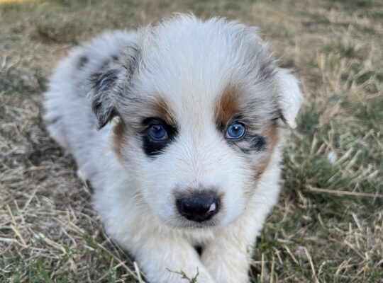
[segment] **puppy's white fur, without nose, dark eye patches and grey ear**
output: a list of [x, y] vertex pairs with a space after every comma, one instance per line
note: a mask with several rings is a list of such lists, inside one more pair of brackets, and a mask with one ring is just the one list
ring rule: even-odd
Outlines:
[[[140, 47], [141, 57], [133, 86], [124, 96], [162, 96], [180, 130], [164, 154], [148, 158], [134, 126], [128, 127], [121, 160], [111, 150], [112, 129], [119, 119], [134, 125], [135, 117], [147, 111], [145, 104], [117, 101], [120, 117], [97, 131], [89, 76], [132, 43]], [[79, 67], [82, 55], [89, 59], [85, 67]], [[104, 33], [75, 48], [55, 70], [45, 93], [48, 130], [94, 187], [94, 207], [107, 233], [135, 257], [149, 282], [185, 282], [172, 271], [194, 277], [197, 269], [197, 282], [248, 282], [255, 237], [277, 202], [280, 150], [277, 146], [255, 184], [250, 164], [262, 153], [248, 161], [228, 146], [216, 129], [213, 109], [225, 86], [238, 83], [247, 93], [245, 104], [257, 101], [246, 106], [257, 125], [265, 124], [277, 104], [294, 127], [299, 87], [294, 76], [276, 67], [277, 79], [260, 79], [261, 63], [269, 55], [254, 28], [223, 19], [203, 22], [177, 16], [138, 33]], [[120, 81], [125, 78], [118, 75]], [[279, 136], [283, 138], [282, 129]], [[214, 216], [215, 226], [197, 228], [177, 214], [174, 188], [199, 185], [224, 193], [224, 209]], [[251, 187], [254, 193], [247, 197], [245, 190]], [[204, 246], [201, 257], [196, 245]]]

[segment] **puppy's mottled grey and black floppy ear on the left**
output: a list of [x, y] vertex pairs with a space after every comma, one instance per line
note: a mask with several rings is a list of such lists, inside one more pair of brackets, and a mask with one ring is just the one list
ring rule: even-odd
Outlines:
[[109, 64], [91, 75], [91, 91], [88, 97], [98, 120], [97, 129], [101, 129], [118, 115], [118, 105], [121, 104], [121, 98], [129, 92], [139, 57], [140, 50], [137, 46], [127, 47], [118, 59], [111, 59]]

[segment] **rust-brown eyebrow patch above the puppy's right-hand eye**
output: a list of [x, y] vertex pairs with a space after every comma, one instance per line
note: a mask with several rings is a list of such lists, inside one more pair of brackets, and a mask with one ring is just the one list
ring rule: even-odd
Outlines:
[[218, 100], [215, 117], [219, 127], [226, 127], [228, 122], [233, 118], [236, 112], [238, 112], [238, 91], [228, 84], [223, 90], [221, 98]]

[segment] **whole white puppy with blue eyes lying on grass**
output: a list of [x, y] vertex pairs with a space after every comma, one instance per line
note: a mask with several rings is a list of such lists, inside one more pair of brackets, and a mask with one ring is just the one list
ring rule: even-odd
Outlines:
[[248, 282], [302, 101], [256, 28], [178, 15], [104, 33], [58, 64], [45, 97], [50, 135], [149, 282]]

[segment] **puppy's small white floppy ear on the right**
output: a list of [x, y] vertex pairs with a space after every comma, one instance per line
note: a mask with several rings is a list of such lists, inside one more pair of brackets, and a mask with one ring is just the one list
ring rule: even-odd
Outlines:
[[295, 118], [303, 101], [298, 80], [289, 71], [284, 69], [277, 70], [277, 80], [280, 91], [279, 110], [281, 111], [281, 118], [287, 125], [295, 128]]

